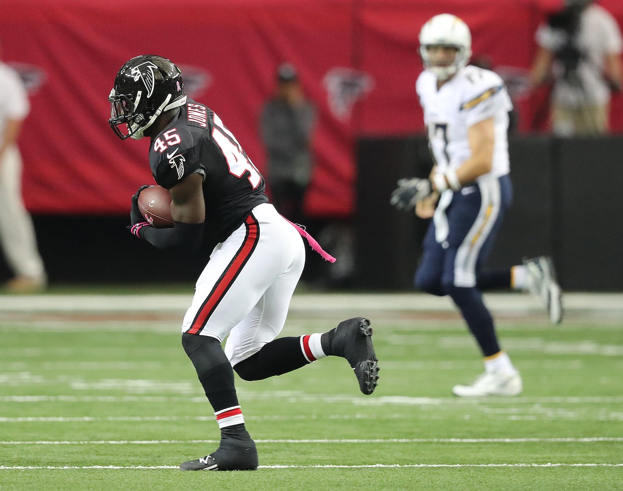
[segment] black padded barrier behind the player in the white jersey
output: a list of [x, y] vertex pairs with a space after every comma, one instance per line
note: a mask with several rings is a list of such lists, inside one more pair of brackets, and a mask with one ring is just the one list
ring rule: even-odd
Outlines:
[[[513, 206], [488, 263], [548, 254], [565, 290], [623, 290], [623, 138], [511, 136], [509, 153]], [[357, 164], [357, 274], [371, 288], [411, 289], [427, 221], [389, 196], [397, 179], [427, 175], [426, 140], [361, 139]]]

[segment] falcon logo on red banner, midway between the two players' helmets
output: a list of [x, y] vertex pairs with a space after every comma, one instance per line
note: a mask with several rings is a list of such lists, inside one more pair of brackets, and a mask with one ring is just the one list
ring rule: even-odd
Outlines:
[[323, 84], [331, 113], [338, 120], [346, 121], [351, 117], [354, 104], [372, 90], [374, 80], [365, 72], [335, 67], [326, 72]]

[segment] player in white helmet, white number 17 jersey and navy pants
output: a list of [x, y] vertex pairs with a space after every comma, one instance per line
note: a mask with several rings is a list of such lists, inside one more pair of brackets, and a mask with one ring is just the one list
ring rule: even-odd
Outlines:
[[432, 216], [416, 287], [450, 295], [485, 357], [485, 373], [471, 385], [455, 386], [453, 393], [516, 396], [521, 377], [500, 347], [482, 290], [530, 287], [554, 322], [560, 320], [561, 303], [548, 257], [511, 269], [482, 270], [512, 201], [506, 138], [512, 103], [497, 74], [467, 65], [471, 36], [461, 19], [432, 17], [419, 39], [426, 70], [416, 90], [435, 165], [429, 179], [401, 179], [391, 203], [398, 209], [415, 206], [420, 217]]

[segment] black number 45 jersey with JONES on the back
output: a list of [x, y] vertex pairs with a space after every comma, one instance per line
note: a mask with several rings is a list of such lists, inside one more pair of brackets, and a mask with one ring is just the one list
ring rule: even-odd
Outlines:
[[235, 136], [210, 108], [190, 98], [151, 140], [150, 166], [156, 183], [167, 189], [195, 172], [203, 176], [210, 246], [224, 241], [255, 206], [269, 201], [262, 174]]

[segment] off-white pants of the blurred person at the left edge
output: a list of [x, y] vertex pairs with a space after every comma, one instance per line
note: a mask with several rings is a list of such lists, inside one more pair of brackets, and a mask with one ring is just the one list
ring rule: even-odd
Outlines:
[[16, 276], [45, 280], [31, 216], [22, 201], [22, 158], [15, 145], [0, 162], [0, 246]]

